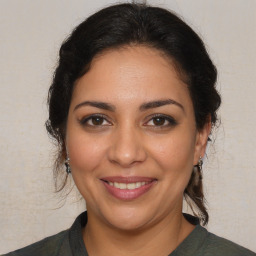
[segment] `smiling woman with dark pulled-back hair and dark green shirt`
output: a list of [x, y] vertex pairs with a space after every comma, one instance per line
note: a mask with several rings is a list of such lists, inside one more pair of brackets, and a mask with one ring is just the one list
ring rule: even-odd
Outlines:
[[255, 255], [199, 224], [216, 76], [201, 39], [167, 10], [120, 4], [81, 23], [60, 49], [46, 127], [56, 175], [66, 166], [59, 189], [72, 175], [87, 212], [7, 255]]

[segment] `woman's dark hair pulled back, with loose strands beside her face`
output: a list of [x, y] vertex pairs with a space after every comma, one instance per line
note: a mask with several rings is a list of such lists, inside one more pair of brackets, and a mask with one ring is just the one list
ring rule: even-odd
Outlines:
[[[199, 36], [174, 13], [145, 4], [117, 4], [93, 14], [74, 29], [59, 51], [59, 62], [49, 89], [48, 133], [59, 146], [56, 160], [56, 189], [62, 190], [67, 176], [63, 166], [66, 157], [65, 126], [75, 81], [90, 68], [93, 58], [109, 49], [126, 45], [145, 45], [161, 51], [176, 63], [188, 85], [194, 106], [197, 129], [211, 120], [221, 99], [216, 91], [217, 71]], [[59, 178], [64, 177], [61, 183]], [[201, 173], [192, 172], [184, 191], [193, 210], [199, 210], [203, 224], [208, 222], [204, 204]]]

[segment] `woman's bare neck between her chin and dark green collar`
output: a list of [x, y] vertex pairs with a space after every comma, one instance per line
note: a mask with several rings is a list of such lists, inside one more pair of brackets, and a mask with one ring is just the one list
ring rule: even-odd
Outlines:
[[119, 230], [88, 212], [83, 239], [90, 256], [166, 256], [192, 232], [194, 226], [180, 214], [137, 230]]

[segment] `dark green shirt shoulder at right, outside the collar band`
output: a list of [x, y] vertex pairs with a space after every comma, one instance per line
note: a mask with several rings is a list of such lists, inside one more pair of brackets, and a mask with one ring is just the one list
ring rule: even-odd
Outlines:
[[202, 255], [207, 256], [256, 256], [256, 253], [210, 232], [207, 232], [202, 248]]

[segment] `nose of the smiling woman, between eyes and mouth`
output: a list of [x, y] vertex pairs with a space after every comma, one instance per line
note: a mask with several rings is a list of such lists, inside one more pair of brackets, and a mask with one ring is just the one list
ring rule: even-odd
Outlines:
[[147, 154], [143, 139], [135, 127], [117, 129], [111, 139], [108, 157], [112, 163], [129, 168], [145, 161]]

